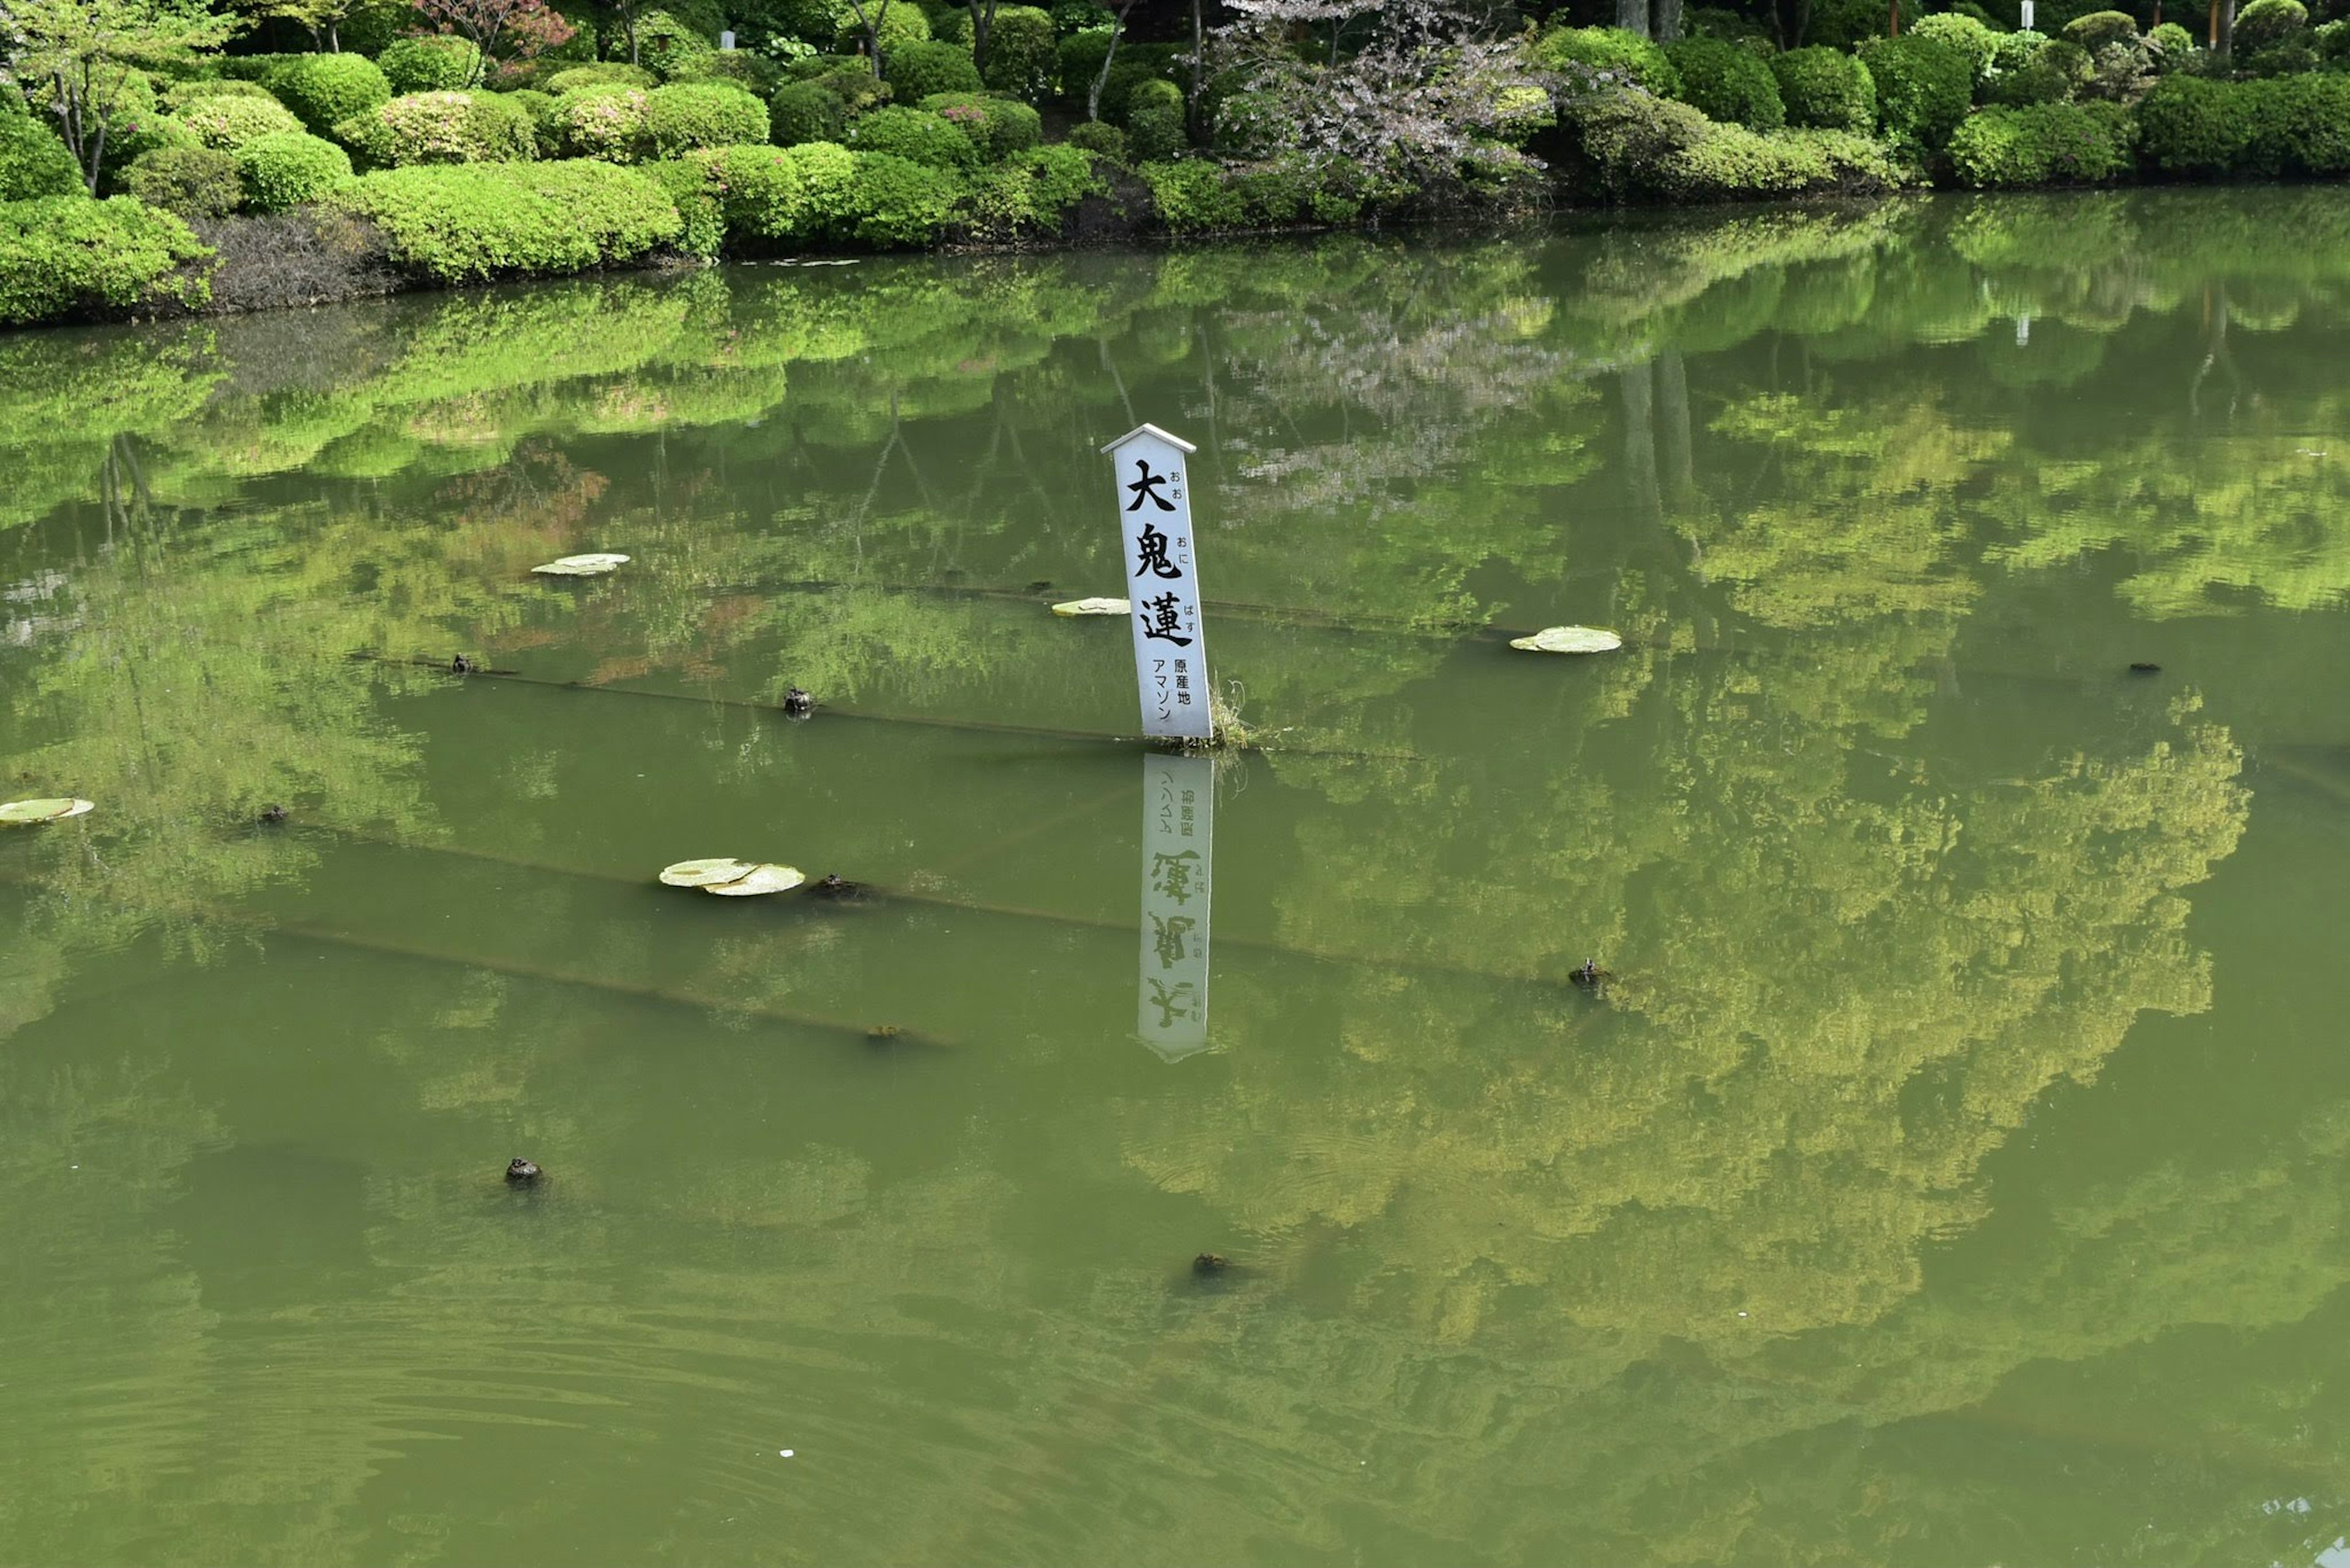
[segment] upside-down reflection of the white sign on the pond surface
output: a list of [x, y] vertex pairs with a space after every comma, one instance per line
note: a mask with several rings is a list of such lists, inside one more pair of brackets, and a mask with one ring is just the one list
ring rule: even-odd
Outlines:
[[1170, 1063], [1208, 1048], [1215, 764], [1142, 759], [1142, 985], [1135, 1032]]

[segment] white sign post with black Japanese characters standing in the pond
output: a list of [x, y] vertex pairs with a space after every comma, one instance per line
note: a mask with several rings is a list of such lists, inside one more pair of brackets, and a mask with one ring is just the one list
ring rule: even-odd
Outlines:
[[1208, 644], [1198, 630], [1198, 564], [1191, 548], [1191, 442], [1135, 425], [1102, 447], [1119, 482], [1126, 597], [1135, 616], [1135, 682], [1142, 733], [1208, 736]]

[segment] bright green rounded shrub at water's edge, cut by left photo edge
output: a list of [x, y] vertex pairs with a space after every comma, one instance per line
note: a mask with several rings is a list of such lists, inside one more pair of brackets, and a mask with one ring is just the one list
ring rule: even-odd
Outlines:
[[0, 324], [202, 306], [209, 256], [186, 221], [127, 195], [0, 202]]

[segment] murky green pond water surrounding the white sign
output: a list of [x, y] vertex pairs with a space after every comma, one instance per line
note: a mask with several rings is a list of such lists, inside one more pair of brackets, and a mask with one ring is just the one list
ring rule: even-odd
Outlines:
[[0, 1559], [2350, 1561], [2345, 364], [2319, 188], [0, 339]]

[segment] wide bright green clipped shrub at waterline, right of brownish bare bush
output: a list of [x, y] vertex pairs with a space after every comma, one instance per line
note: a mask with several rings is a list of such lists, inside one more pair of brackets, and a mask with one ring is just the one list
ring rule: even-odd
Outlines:
[[684, 233], [658, 181], [595, 160], [362, 174], [329, 205], [432, 282], [548, 277], [637, 261]]

